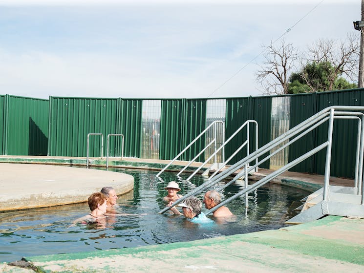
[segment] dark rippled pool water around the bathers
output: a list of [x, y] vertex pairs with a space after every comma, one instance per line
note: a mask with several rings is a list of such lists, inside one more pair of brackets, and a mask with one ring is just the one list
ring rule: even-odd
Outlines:
[[[161, 182], [154, 171], [109, 170], [134, 176], [134, 189], [119, 196], [116, 210], [141, 215], [114, 216], [104, 222], [71, 226], [73, 220], [89, 213], [87, 203], [0, 213], [0, 262], [34, 255], [131, 248], [278, 229], [296, 215], [294, 209], [300, 206], [299, 200], [309, 194], [268, 183], [249, 194], [247, 212], [243, 198], [238, 198], [227, 205], [235, 214], [233, 217], [194, 224], [183, 216], [171, 215], [170, 211], [157, 214], [166, 206], [163, 197], [167, 191], [163, 188], [176, 180], [175, 173], [163, 173], [166, 182]], [[203, 183], [204, 178], [177, 182], [183, 195]], [[108, 185], [100, 188], [104, 186]], [[236, 183], [224, 189], [222, 195], [226, 199], [241, 189], [243, 185]], [[203, 194], [197, 197], [202, 200]]]

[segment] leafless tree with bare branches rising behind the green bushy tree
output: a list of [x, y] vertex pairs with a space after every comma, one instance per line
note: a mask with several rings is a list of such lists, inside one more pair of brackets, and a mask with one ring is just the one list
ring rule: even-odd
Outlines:
[[[359, 65], [359, 36], [348, 34], [345, 41], [337, 42], [332, 39], [320, 39], [308, 47], [305, 63], [330, 63], [333, 69], [328, 70], [328, 90], [332, 90], [334, 82], [339, 76], [345, 80], [357, 82]], [[303, 71], [303, 70], [301, 70]], [[307, 75], [301, 73], [301, 77], [310, 85]], [[312, 90], [316, 91], [316, 90]]]

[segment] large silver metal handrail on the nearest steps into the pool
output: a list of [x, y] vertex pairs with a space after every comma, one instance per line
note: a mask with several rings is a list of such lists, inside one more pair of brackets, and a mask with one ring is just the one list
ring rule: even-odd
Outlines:
[[[303, 135], [305, 135], [308, 132], [310, 132], [313, 128], [321, 125], [323, 122], [326, 122], [327, 120], [329, 120], [329, 130], [328, 130], [328, 140], [327, 140], [327, 142], [321, 144], [319, 147], [316, 147], [316, 148], [312, 149], [311, 151], [307, 152], [306, 154], [300, 156], [298, 159], [296, 159], [296, 160], [292, 161], [291, 163], [287, 164], [286, 166], [278, 169], [277, 171], [273, 172], [271, 175], [268, 175], [267, 177], [259, 180], [258, 182], [264, 182], [264, 181], [267, 181], [268, 182], [269, 180], [271, 180], [274, 177], [278, 176], [280, 173], [284, 172], [285, 170], [287, 170], [289, 168], [292, 168], [293, 166], [299, 164], [301, 161], [303, 161], [304, 159], [308, 158], [309, 156], [311, 156], [312, 154], [316, 153], [317, 151], [323, 149], [324, 147], [328, 147], [329, 145], [331, 145], [330, 142], [332, 141], [332, 136], [330, 136], [330, 135], [332, 134], [332, 127], [333, 127], [333, 120], [334, 120], [334, 115], [335, 115], [335, 109], [336, 110], [349, 110], [349, 111], [350, 110], [351, 111], [354, 111], [354, 110], [363, 111], [364, 110], [364, 107], [363, 106], [330, 106], [330, 107], [327, 107], [327, 108], [321, 110], [317, 114], [315, 114], [312, 117], [308, 118], [307, 120], [303, 121], [299, 125], [291, 128], [290, 130], [288, 130], [284, 134], [278, 136], [276, 139], [274, 139], [271, 142], [267, 143], [263, 147], [260, 147], [259, 149], [257, 149], [252, 154], [250, 154], [250, 155], [246, 156], [245, 158], [241, 159], [236, 164], [232, 165], [230, 168], [228, 168], [225, 171], [223, 171], [223, 172], [219, 173], [218, 175], [216, 175], [214, 178], [209, 179], [204, 184], [200, 185], [196, 189], [193, 189], [191, 192], [187, 193], [182, 198], [180, 198], [177, 201], [175, 201], [171, 205], [171, 207], [176, 206], [179, 203], [183, 202], [183, 200], [185, 200], [186, 198], [188, 198], [188, 197], [190, 197], [192, 195], [195, 195], [195, 194], [203, 191], [204, 189], [207, 189], [207, 188], [211, 187], [212, 185], [214, 185], [217, 182], [221, 181], [222, 179], [226, 178], [230, 174], [236, 172], [242, 166], [247, 165], [250, 161], [258, 158], [259, 156], [263, 155], [267, 151], [269, 151], [272, 148], [278, 146], [282, 142], [285, 142], [286, 140], [288, 140], [288, 139], [296, 136], [297, 134], [299, 134], [300, 132], [302, 132], [303, 130], [305, 130], [305, 129], [308, 128], [308, 130], [304, 131], [303, 133], [301, 133], [300, 135], [298, 135], [297, 137], [295, 137], [294, 139], [292, 139], [291, 141], [289, 141], [286, 145], [284, 145], [283, 147], [281, 147], [280, 149], [278, 149], [278, 151], [280, 151], [281, 149], [283, 149], [283, 148], [287, 147], [288, 145], [292, 144], [293, 142], [297, 141]], [[340, 111], [338, 111], [337, 113], [340, 114], [340, 115], [361, 115], [361, 116], [363, 116], [362, 113], [358, 113], [358, 112], [340, 112]], [[347, 118], [347, 117], [337, 116], [336, 118]], [[360, 125], [358, 125], [358, 127], [359, 126]], [[360, 148], [357, 147], [357, 153], [358, 153], [358, 151], [360, 153], [360, 155], [359, 155], [359, 162], [358, 162], [358, 156], [356, 157], [356, 169], [358, 168], [358, 194], [359, 194], [359, 192], [362, 192], [362, 202], [361, 202], [362, 205], [364, 205], [364, 187], [362, 187], [362, 174], [363, 174], [362, 168], [363, 168], [363, 153], [364, 153], [364, 148], [363, 148], [364, 147], [364, 137], [363, 137], [364, 128], [363, 127], [364, 127], [364, 123], [361, 122], [361, 130], [358, 129], [358, 134], [360, 133], [360, 136], [358, 135], [358, 138], [360, 139], [360, 141], [358, 141], [358, 143], [360, 142]], [[268, 158], [270, 158], [271, 156], [273, 156], [276, 152], [277, 151], [273, 152], [271, 155], [269, 155], [266, 158], [264, 158], [263, 160], [261, 160], [258, 164], [260, 164], [261, 162], [267, 160]], [[327, 148], [326, 159], [327, 159], [327, 157], [330, 157], [331, 158], [331, 148]], [[253, 167], [251, 167], [251, 168], [253, 168]], [[328, 188], [328, 183], [329, 183], [329, 175], [330, 175], [330, 166], [329, 166], [328, 162], [326, 161], [325, 180], [324, 181], [325, 181], [325, 184], [327, 184], [326, 185], [327, 188]], [[242, 176], [242, 174], [239, 172], [234, 179], [237, 180], [238, 177], [241, 177], [241, 176]], [[254, 185], [256, 185], [256, 184], [257, 183], [255, 183]], [[258, 187], [260, 187], [260, 186], [258, 186]], [[326, 192], [327, 192], [327, 188], [326, 188]], [[251, 187], [250, 189], [254, 190], [256, 188], [253, 189]], [[244, 189], [244, 191], [245, 190], [246, 189]], [[242, 192], [239, 196], [241, 196], [242, 194], [245, 194], [245, 192]], [[327, 194], [325, 194], [324, 196], [327, 198]], [[231, 199], [229, 198], [229, 199], [227, 199], [225, 201], [228, 201], [228, 200], [231, 200]], [[209, 210], [208, 213], [211, 213], [214, 210], [217, 210], [219, 207], [223, 206], [221, 204], [226, 204], [227, 202], [225, 202], [225, 201], [222, 202], [222, 203], [220, 203], [219, 204], [220, 206], [215, 206], [213, 209]], [[164, 213], [165, 211], [167, 211], [169, 209], [170, 209], [170, 207], [166, 207], [163, 210], [160, 210], [158, 213]]]

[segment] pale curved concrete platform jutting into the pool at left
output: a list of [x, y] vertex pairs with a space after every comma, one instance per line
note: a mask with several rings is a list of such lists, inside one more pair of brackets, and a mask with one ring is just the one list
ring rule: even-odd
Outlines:
[[105, 186], [124, 194], [133, 189], [134, 177], [97, 169], [0, 163], [0, 211], [86, 202]]

